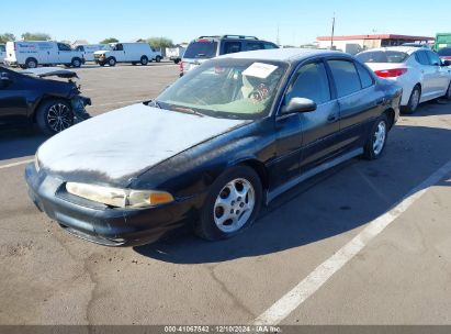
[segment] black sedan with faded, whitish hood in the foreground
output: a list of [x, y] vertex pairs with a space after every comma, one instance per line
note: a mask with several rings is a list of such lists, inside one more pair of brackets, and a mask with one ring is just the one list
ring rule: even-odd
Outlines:
[[187, 223], [232, 237], [306, 178], [381, 157], [401, 93], [343, 53], [227, 55], [48, 140], [25, 170], [30, 197], [99, 244], [150, 243]]

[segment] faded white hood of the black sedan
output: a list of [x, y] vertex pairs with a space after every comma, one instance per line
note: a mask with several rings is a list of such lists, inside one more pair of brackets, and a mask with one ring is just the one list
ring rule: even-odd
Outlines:
[[45, 142], [42, 168], [126, 186], [132, 177], [249, 121], [215, 119], [134, 104], [79, 123]]

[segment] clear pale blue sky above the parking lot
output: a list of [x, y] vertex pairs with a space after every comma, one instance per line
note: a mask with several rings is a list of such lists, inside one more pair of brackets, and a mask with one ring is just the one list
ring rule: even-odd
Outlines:
[[435, 36], [450, 32], [446, 1], [428, 0], [0, 0], [0, 34], [48, 33], [53, 40], [105, 37], [133, 41], [165, 36], [174, 43], [200, 35], [246, 34], [283, 45], [312, 43], [330, 35], [406, 34]]

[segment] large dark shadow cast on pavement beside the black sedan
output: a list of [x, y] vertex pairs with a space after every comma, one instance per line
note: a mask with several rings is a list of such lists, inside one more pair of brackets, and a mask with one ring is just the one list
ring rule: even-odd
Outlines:
[[356, 158], [307, 180], [275, 199], [234, 238], [205, 242], [185, 227], [134, 249], [165, 263], [203, 264], [258, 257], [334, 237], [390, 211], [448, 163], [451, 151], [443, 143], [451, 143], [450, 130], [397, 125], [381, 159]]

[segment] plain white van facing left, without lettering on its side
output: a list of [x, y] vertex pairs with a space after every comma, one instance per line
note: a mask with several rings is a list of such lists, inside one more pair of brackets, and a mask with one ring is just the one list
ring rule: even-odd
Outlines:
[[94, 60], [100, 66], [114, 66], [116, 63], [147, 65], [149, 62], [161, 62], [161, 53], [156, 52], [148, 43], [111, 43], [111, 49], [94, 52]]

